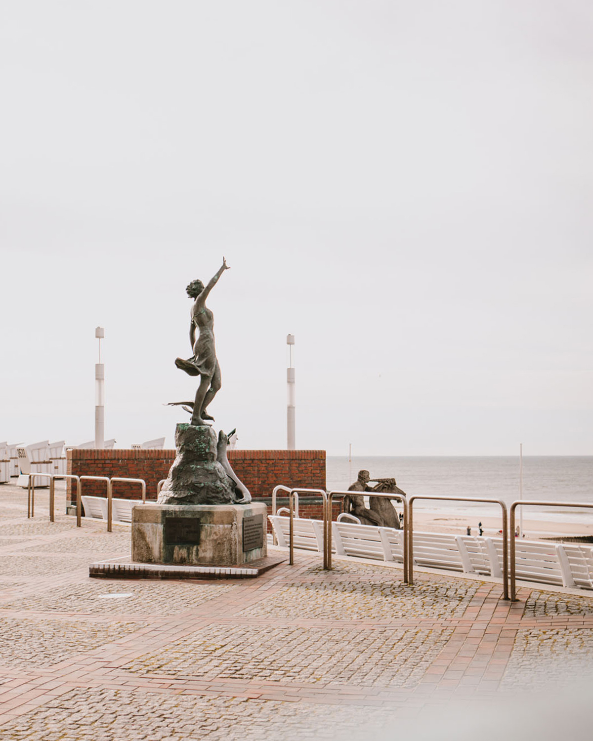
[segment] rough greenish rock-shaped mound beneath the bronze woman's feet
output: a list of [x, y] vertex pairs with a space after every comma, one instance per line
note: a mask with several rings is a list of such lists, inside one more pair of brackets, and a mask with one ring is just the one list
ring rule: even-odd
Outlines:
[[208, 425], [179, 424], [177, 455], [163, 484], [159, 505], [247, 504], [251, 496], [235, 476], [226, 456], [226, 436]]

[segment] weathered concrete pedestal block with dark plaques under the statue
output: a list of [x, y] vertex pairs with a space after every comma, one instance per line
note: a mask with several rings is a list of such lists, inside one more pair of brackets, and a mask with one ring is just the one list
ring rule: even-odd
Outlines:
[[132, 508], [132, 561], [240, 565], [268, 555], [265, 504]]

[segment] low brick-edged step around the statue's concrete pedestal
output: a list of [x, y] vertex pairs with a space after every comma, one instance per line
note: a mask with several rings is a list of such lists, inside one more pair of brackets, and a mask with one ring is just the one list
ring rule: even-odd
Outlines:
[[233, 566], [173, 566], [117, 559], [91, 563], [88, 575], [105, 579], [254, 579], [286, 560], [286, 556], [266, 556]]

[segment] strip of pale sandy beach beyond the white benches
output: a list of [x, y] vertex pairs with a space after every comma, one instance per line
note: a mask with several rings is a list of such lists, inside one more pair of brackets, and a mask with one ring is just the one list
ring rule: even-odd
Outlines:
[[[563, 522], [559, 520], [529, 519], [523, 515], [523, 533], [526, 538], [539, 539], [546, 537], [574, 537], [577, 535], [593, 536], [592, 518], [587, 522]], [[502, 518], [492, 516], [480, 516], [474, 513], [468, 515], [454, 515], [446, 511], [427, 511], [414, 509], [414, 530], [433, 533], [454, 533], [465, 535], [466, 528], [471, 527], [471, 534], [478, 535], [478, 522], [482, 522], [483, 535], [496, 536], [502, 528]], [[517, 524], [519, 514], [517, 512]]]

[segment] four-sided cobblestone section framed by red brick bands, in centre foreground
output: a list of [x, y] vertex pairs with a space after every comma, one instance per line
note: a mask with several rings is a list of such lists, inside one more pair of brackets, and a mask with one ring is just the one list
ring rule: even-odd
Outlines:
[[123, 668], [142, 674], [274, 682], [356, 682], [368, 687], [411, 686], [445, 646], [452, 628], [267, 628], [208, 625]]

